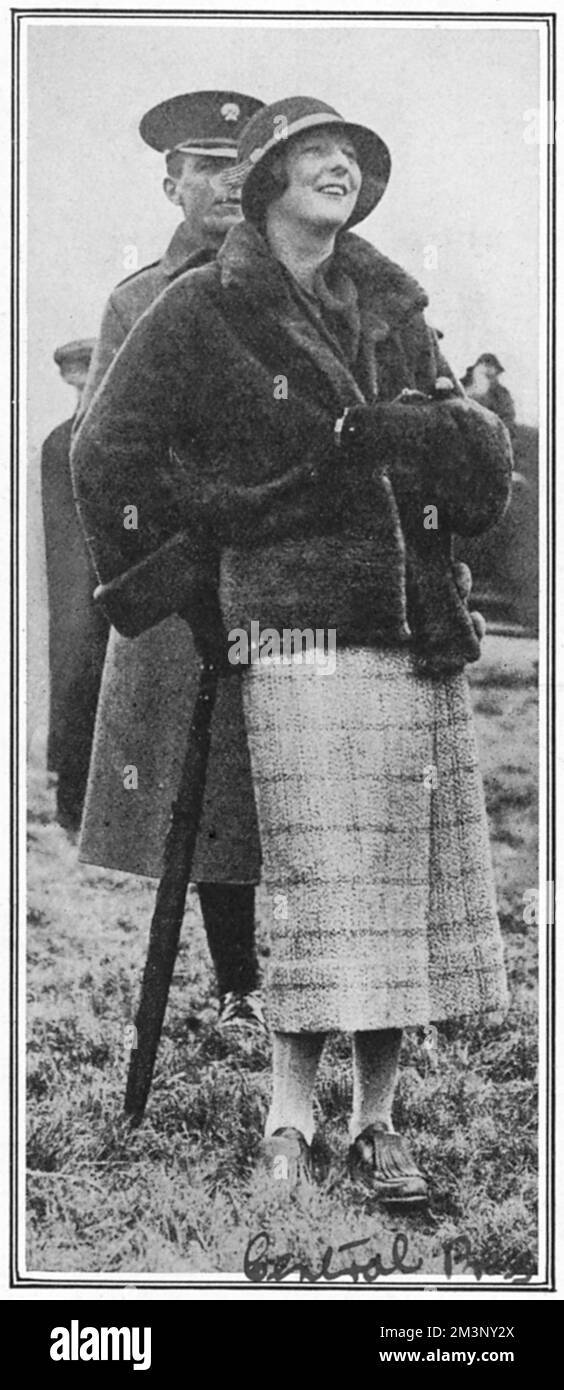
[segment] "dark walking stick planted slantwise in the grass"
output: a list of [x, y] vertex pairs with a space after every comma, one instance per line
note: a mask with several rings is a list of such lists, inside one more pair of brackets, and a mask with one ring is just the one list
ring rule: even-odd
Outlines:
[[181, 783], [164, 847], [164, 872], [157, 890], [135, 1020], [136, 1048], [131, 1055], [125, 1091], [125, 1113], [133, 1125], [140, 1125], [147, 1104], [178, 952], [204, 798], [217, 682], [217, 666], [203, 663]]

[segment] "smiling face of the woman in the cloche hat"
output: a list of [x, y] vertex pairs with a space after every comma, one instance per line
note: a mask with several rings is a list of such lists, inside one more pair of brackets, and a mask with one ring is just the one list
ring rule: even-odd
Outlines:
[[275, 202], [286, 220], [339, 231], [349, 221], [363, 175], [346, 131], [321, 128], [292, 138], [285, 153], [288, 188]]

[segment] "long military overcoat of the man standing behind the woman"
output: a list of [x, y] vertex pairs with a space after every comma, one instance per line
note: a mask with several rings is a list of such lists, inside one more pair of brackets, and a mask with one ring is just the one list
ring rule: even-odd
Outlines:
[[[92, 357], [81, 418], [138, 318], [179, 274], [207, 260], [210, 252], [194, 245], [181, 224], [161, 261], [114, 289]], [[181, 619], [172, 617], [135, 639], [111, 630], [79, 845], [86, 863], [160, 876], [197, 681], [194, 642]], [[194, 883], [260, 878], [254, 794], [236, 682], [221, 684], [215, 705], [192, 876]]]

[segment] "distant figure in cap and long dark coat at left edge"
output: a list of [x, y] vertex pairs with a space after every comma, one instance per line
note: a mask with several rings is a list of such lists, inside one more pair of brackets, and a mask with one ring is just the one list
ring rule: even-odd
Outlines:
[[[76, 410], [85, 386], [93, 339], [57, 348], [61, 377], [76, 389]], [[58, 774], [57, 820], [65, 830], [81, 826], [90, 762], [97, 695], [108, 624], [94, 607], [92, 567], [72, 498], [69, 468], [71, 416], [42, 449], [42, 503], [49, 598], [49, 742], [47, 769]]]

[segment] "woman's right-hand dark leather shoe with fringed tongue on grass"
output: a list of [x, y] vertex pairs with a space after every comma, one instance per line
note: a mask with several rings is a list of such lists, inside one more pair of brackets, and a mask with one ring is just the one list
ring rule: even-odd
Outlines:
[[424, 1207], [429, 1187], [401, 1134], [368, 1125], [349, 1150], [349, 1172], [382, 1207]]

